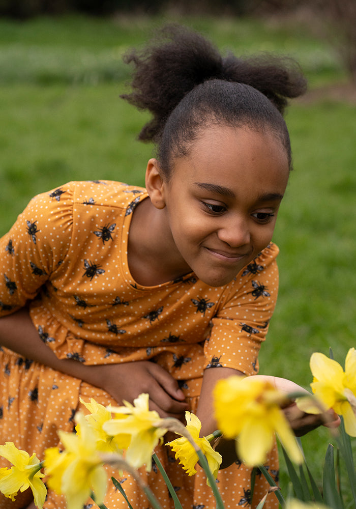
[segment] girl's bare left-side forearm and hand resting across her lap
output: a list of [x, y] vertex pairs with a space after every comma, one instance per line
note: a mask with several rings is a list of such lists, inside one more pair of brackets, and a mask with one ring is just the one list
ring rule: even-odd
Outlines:
[[58, 359], [41, 340], [27, 309], [0, 318], [0, 345], [19, 355], [79, 378], [108, 392], [118, 405], [132, 401], [141, 392], [150, 394], [150, 408], [161, 417], [183, 419], [188, 409], [176, 380], [150, 361], [89, 366], [74, 359]]

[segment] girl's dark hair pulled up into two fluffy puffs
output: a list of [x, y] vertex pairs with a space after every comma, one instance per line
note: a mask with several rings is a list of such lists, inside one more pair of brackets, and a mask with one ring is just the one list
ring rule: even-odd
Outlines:
[[282, 115], [287, 98], [306, 89], [293, 60], [272, 55], [223, 58], [202, 35], [175, 24], [165, 26], [142, 51], [134, 49], [124, 60], [135, 70], [132, 92], [121, 97], [151, 112], [138, 139], [157, 144], [167, 179], [174, 158], [188, 155], [201, 130], [215, 125], [272, 129], [291, 166]]

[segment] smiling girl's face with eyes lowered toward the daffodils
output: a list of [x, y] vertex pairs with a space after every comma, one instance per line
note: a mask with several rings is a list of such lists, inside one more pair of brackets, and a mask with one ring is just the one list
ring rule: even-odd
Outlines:
[[288, 175], [271, 131], [206, 128], [160, 188], [182, 274], [214, 287], [231, 281], [271, 241]]

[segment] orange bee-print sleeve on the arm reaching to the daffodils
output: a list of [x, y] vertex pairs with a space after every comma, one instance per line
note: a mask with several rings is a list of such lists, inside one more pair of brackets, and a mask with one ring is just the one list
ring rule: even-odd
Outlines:
[[228, 286], [204, 343], [205, 368], [231, 367], [258, 372], [258, 353], [278, 293], [278, 247], [270, 244]]

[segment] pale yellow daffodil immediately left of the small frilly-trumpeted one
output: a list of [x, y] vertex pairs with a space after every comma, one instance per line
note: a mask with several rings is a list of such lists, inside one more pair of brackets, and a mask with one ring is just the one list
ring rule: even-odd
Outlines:
[[[146, 466], [147, 472], [152, 467], [153, 449], [166, 433], [158, 426], [160, 416], [149, 410], [149, 394], [140, 394], [131, 405], [124, 401], [122, 407], [112, 407], [116, 418], [103, 424], [103, 430], [111, 436], [130, 435], [130, 445], [126, 451], [126, 461], [134, 468]], [[126, 416], [126, 418], [122, 418]], [[121, 417], [121, 418], [120, 418]]]

